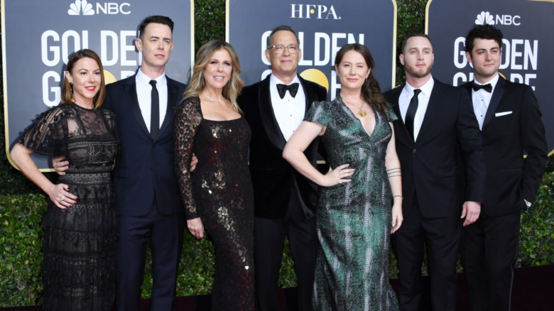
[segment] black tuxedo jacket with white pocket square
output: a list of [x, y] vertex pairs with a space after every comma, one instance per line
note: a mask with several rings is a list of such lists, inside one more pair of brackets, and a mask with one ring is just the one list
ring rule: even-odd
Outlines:
[[[462, 88], [472, 96], [472, 82]], [[533, 89], [499, 77], [482, 136], [487, 167], [482, 213], [498, 217], [525, 208], [524, 200], [535, 200], [548, 160], [545, 129]]]

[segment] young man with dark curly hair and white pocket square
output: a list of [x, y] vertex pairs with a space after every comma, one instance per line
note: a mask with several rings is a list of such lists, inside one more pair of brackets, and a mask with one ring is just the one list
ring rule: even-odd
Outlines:
[[535, 199], [548, 158], [533, 89], [499, 75], [502, 37], [501, 31], [485, 25], [475, 26], [465, 40], [475, 80], [462, 87], [473, 99], [487, 166], [481, 217], [462, 230], [472, 311], [510, 310], [521, 210]]

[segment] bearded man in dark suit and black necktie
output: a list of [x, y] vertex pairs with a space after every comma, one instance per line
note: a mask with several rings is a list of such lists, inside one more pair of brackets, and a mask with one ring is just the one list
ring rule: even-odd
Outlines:
[[424, 244], [431, 306], [455, 310], [456, 261], [464, 225], [479, 217], [484, 193], [481, 133], [463, 89], [431, 77], [433, 45], [415, 34], [403, 41], [406, 84], [386, 92], [402, 167], [402, 227], [392, 236], [398, 259], [400, 310], [418, 310]]

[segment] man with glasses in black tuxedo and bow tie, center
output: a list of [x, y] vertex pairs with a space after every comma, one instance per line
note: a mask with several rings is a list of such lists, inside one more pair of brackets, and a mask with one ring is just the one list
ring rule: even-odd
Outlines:
[[[317, 186], [283, 159], [283, 147], [326, 89], [297, 75], [300, 41], [288, 26], [267, 39], [271, 75], [244, 87], [239, 104], [252, 129], [250, 174], [254, 185], [254, 259], [257, 310], [278, 310], [277, 283], [285, 237], [298, 277], [298, 305], [311, 310], [317, 234]], [[305, 151], [315, 166], [317, 140]]]

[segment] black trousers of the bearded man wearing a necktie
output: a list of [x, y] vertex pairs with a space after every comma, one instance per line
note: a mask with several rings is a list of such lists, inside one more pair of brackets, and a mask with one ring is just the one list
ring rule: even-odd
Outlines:
[[[427, 245], [431, 308], [454, 311], [456, 308], [456, 263], [462, 219], [425, 218], [417, 200], [403, 215], [402, 226], [392, 235], [398, 260], [398, 301], [401, 311], [416, 311], [421, 300], [421, 265]], [[461, 212], [461, 211], [460, 211]]]

